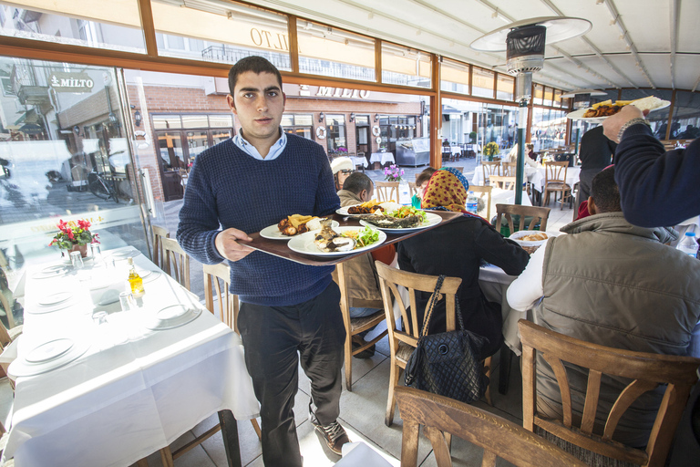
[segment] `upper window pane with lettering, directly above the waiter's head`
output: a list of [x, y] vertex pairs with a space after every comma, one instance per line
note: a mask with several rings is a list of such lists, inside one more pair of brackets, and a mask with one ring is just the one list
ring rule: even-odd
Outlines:
[[[161, 56], [235, 63], [257, 55], [281, 70], [292, 69], [287, 16], [224, 2], [151, 0], [150, 5], [156, 33], [168, 39], [163, 47], [159, 41]], [[175, 36], [183, 39], [183, 48], [170, 47], [170, 39]]]

